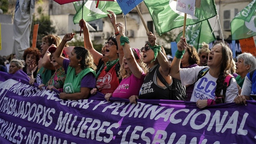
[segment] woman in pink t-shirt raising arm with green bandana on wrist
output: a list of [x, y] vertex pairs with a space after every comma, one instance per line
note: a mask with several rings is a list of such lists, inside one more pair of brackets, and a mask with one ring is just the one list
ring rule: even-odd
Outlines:
[[119, 78], [123, 80], [113, 94], [107, 93], [105, 95], [105, 99], [108, 101], [111, 96], [129, 99], [132, 95], [139, 95], [145, 72], [147, 72], [146, 65], [142, 61], [142, 53], [139, 49], [131, 48], [128, 37], [124, 36], [124, 24], [119, 22], [116, 26], [120, 28], [121, 37], [118, 41], [120, 41], [124, 51], [123, 62], [119, 70]]

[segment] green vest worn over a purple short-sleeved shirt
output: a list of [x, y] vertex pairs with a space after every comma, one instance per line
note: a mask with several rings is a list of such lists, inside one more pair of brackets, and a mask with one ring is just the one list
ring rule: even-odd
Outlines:
[[76, 75], [75, 68], [68, 66], [67, 76], [63, 86], [63, 92], [65, 93], [80, 92], [81, 80], [89, 72], [92, 72], [94, 76], [96, 76], [96, 73], [92, 68], [85, 68]]

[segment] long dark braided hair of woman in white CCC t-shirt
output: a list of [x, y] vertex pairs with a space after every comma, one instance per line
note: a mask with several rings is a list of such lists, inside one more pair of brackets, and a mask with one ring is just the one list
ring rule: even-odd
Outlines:
[[[216, 81], [216, 89], [215, 89], [215, 103], [224, 103], [225, 97], [224, 95], [220, 94], [221, 90], [223, 89], [223, 82], [225, 80], [225, 77], [228, 75], [228, 70], [232, 66], [232, 51], [228, 47], [227, 44], [223, 44], [220, 42], [219, 44], [215, 45], [221, 45], [222, 47], [222, 60], [220, 65], [220, 75]], [[215, 46], [213, 45], [213, 46]]]

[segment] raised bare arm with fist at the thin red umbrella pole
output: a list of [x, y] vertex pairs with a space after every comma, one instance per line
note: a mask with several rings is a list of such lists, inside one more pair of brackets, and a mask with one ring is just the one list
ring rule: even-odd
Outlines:
[[93, 62], [95, 63], [95, 65], [98, 65], [99, 60], [102, 58], [102, 54], [93, 48], [87, 23], [83, 19], [81, 19], [79, 21], [79, 26], [83, 29], [84, 33], [84, 47], [91, 52], [94, 59]]

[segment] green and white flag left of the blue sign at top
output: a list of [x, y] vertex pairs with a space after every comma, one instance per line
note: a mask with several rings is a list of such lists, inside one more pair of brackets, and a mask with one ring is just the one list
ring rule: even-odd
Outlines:
[[[92, 21], [92, 20], [98, 20], [100, 18], [107, 17], [109, 11], [115, 12], [115, 14], [122, 13], [121, 8], [117, 4], [117, 2], [114, 1], [100, 1], [98, 8], [96, 8], [96, 3], [97, 1], [92, 1], [88, 0], [84, 4], [84, 10], [83, 10], [83, 19], [85, 21]], [[83, 1], [77, 1], [73, 2], [75, 9], [76, 9], [76, 14], [73, 17], [73, 22], [79, 23], [79, 20], [82, 19], [82, 5]]]

